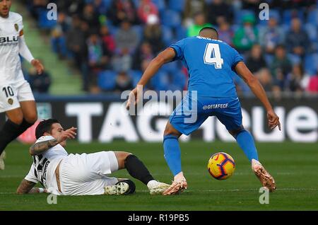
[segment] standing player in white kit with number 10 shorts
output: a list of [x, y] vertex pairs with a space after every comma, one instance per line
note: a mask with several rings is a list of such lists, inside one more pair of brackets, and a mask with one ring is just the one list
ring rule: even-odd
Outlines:
[[0, 113], [8, 120], [0, 130], [0, 170], [4, 170], [4, 149], [37, 120], [35, 99], [25, 81], [19, 54], [37, 69], [43, 71], [34, 59], [23, 35], [22, 16], [10, 11], [11, 0], [0, 0]]

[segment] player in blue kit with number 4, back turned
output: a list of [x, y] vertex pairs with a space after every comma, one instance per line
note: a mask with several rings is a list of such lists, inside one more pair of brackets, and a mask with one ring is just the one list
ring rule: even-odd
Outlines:
[[[188, 37], [161, 52], [149, 64], [138, 85], [145, 86], [163, 64], [181, 60], [189, 71], [189, 86], [184, 97], [165, 127], [163, 148], [165, 160], [175, 175], [174, 181], [164, 195], [173, 195], [187, 188], [181, 168], [181, 153], [178, 138], [181, 134], [189, 135], [198, 129], [210, 116], [218, 117], [228, 132], [235, 137], [241, 149], [252, 163], [252, 170], [261, 184], [275, 190], [273, 177], [259, 163], [257, 149], [252, 135], [242, 125], [240, 101], [237, 98], [233, 71], [239, 74], [267, 111], [269, 127], [281, 129], [279, 118], [274, 113], [264, 88], [249, 69], [240, 54], [225, 42], [218, 40], [218, 32], [214, 28], [203, 28], [199, 36]], [[127, 108], [136, 104], [141, 98], [137, 96], [137, 87], [131, 91]], [[197, 97], [196, 97], [197, 96]], [[189, 108], [196, 103], [195, 108]], [[189, 123], [189, 115], [196, 114], [194, 122]]]

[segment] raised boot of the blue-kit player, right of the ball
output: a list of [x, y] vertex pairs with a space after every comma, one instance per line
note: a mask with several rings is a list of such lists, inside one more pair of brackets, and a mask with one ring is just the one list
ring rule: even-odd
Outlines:
[[257, 175], [259, 181], [261, 181], [261, 185], [263, 185], [264, 188], [269, 189], [269, 192], [273, 192], [276, 189], [273, 177], [266, 171], [264, 166], [262, 166], [261, 163], [254, 158], [252, 159], [252, 171], [254, 171], [255, 175]]

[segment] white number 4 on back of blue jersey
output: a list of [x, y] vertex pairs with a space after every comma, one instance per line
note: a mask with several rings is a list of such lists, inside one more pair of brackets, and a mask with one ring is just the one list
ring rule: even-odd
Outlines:
[[216, 69], [222, 69], [223, 59], [220, 57], [220, 47], [218, 44], [208, 43], [208, 45], [206, 45], [204, 63], [213, 64]]

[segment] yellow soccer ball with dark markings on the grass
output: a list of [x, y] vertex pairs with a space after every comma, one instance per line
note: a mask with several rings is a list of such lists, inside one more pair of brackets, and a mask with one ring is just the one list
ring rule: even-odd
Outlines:
[[208, 173], [217, 180], [226, 180], [235, 171], [235, 162], [232, 156], [224, 152], [213, 154], [208, 160]]

